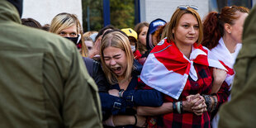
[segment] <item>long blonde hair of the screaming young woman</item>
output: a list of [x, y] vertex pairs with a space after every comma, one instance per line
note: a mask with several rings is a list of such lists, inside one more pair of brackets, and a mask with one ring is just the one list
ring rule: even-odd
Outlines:
[[121, 49], [126, 53], [127, 67], [126, 71], [124, 72], [125, 77], [122, 81], [128, 80], [131, 76], [131, 71], [133, 69], [133, 54], [130, 49], [130, 42], [128, 40], [128, 37], [122, 34], [120, 31], [111, 31], [102, 38], [102, 45], [100, 50], [102, 69], [107, 77], [108, 82], [111, 84], [115, 84], [118, 83], [116, 73], [113, 73], [111, 69], [107, 67], [103, 54], [103, 50], [105, 50], [109, 46]]

